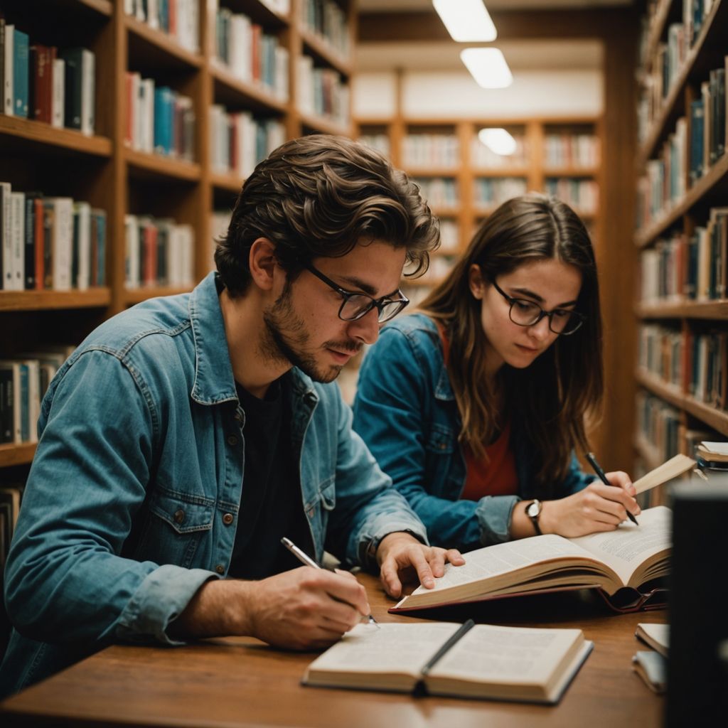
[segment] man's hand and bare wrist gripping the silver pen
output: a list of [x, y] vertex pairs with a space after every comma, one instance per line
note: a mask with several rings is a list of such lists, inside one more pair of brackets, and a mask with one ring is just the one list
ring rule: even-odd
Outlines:
[[288, 649], [320, 649], [371, 612], [353, 574], [301, 566], [258, 582], [205, 582], [170, 636], [249, 635]]

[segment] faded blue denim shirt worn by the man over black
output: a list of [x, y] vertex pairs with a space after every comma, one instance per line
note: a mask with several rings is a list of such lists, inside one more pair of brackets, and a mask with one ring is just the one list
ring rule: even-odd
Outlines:
[[[336, 384], [290, 377], [292, 448], [316, 558], [373, 566], [422, 523], [376, 465]], [[214, 274], [103, 323], [53, 379], [5, 571], [15, 625], [0, 692], [167, 625], [224, 577], [243, 483], [240, 408]], [[232, 521], [223, 518], [233, 516]]]

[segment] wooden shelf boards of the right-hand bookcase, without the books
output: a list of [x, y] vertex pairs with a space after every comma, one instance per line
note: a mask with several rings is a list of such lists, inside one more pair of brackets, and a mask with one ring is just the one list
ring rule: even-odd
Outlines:
[[[653, 70], [652, 66], [658, 63], [660, 44], [667, 41], [670, 24], [683, 21], [682, 7], [681, 0], [662, 0], [654, 12], [644, 42], [642, 66], [638, 69], [644, 78], [649, 76]], [[690, 104], [692, 100], [700, 98], [700, 84], [708, 80], [711, 69], [724, 67], [726, 55], [728, 55], [728, 1], [716, 0], [713, 2], [711, 12], [703, 17], [703, 23], [685, 55], [684, 65], [678, 69], [673, 84], [665, 94], [661, 106], [657, 108], [646, 138], [641, 143], [637, 155], [638, 176], [644, 173], [651, 159], [659, 157], [662, 142], [675, 132], [676, 121], [683, 116], [688, 119], [689, 145], [693, 133], [690, 129], [692, 124]], [[689, 149], [686, 154], [689, 159]], [[681, 199], [673, 200], [656, 219], [636, 230], [634, 242], [641, 255], [659, 250], [655, 246], [662, 237], [676, 234], [684, 235], [686, 240], [689, 240], [696, 229], [706, 225], [711, 208], [725, 205], [728, 192], [727, 154], [716, 159], [696, 181], [691, 183], [689, 179], [689, 164], [685, 175], [686, 191]], [[687, 242], [680, 242], [680, 245], [687, 246]], [[687, 247], [683, 253], [686, 251]], [[684, 278], [680, 283], [683, 282]], [[658, 403], [665, 403], [668, 408], [674, 408], [677, 412], [679, 433], [688, 430], [699, 432], [713, 430], [717, 433], [716, 439], [728, 438], [727, 403], [721, 401], [720, 392], [716, 394], [711, 390], [709, 402], [702, 401], [703, 398], [708, 399], [708, 396], [698, 399], [694, 394], [696, 389], [699, 390], [695, 384], [695, 361], [700, 362], [700, 357], [695, 357], [695, 338], [701, 334], [724, 336], [728, 332], [728, 299], [721, 297], [696, 301], [683, 291], [678, 291], [664, 300], [651, 298], [649, 301], [637, 301], [635, 314], [640, 325], [659, 325], [660, 332], [665, 332], [666, 340], [680, 341], [681, 347], [684, 347], [678, 354], [681, 357], [678, 370], [680, 384], [673, 383], [678, 381], [678, 377], [671, 370], [671, 381], [668, 382], [657, 373], [638, 367], [635, 373], [638, 387], [657, 397]], [[667, 351], [668, 348], [668, 344], [665, 344], [665, 352], [661, 356], [673, 356], [672, 351]], [[717, 367], [722, 368], [722, 376], [726, 376], [726, 362], [721, 361], [720, 355], [714, 361], [717, 362]], [[707, 373], [704, 376], [708, 376]], [[668, 413], [666, 414], [668, 420], [670, 417], [674, 419], [675, 415], [669, 414], [673, 410], [665, 412]], [[644, 417], [645, 413], [638, 412], [638, 422]], [[654, 464], [654, 443], [646, 438], [644, 432], [636, 433], [634, 445], [636, 453], [647, 466]], [[679, 435], [678, 450], [692, 456], [693, 453], [687, 452], [687, 449], [687, 439]], [[665, 455], [670, 454], [662, 452], [661, 455], [664, 459]]]

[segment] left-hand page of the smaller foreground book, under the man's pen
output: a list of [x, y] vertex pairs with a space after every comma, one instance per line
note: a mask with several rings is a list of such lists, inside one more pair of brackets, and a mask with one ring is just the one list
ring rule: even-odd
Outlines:
[[460, 627], [454, 622], [357, 625], [309, 666], [332, 672], [419, 675], [440, 646]]

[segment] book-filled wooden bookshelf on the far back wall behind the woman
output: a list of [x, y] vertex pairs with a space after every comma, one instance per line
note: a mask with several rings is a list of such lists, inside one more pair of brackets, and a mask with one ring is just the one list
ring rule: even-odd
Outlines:
[[[443, 244], [431, 271], [407, 282], [416, 301], [441, 280], [480, 223], [501, 202], [526, 191], [548, 191], [585, 221], [598, 248], [601, 119], [357, 119], [357, 135], [388, 154], [422, 186], [440, 218]], [[505, 128], [516, 141], [510, 157], [478, 139], [486, 127]], [[587, 194], [588, 190], [588, 194]]]

